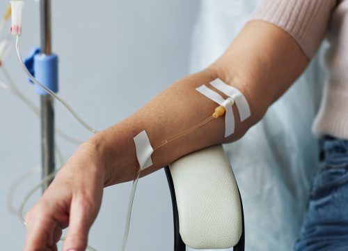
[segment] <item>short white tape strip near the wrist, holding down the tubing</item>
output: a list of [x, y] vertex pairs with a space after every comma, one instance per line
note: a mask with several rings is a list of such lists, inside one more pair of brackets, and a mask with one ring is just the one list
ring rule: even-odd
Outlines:
[[134, 137], [134, 143], [136, 149], [136, 158], [138, 158], [141, 170], [151, 167], [151, 155], [153, 153], [153, 149], [150, 144], [150, 139], [145, 130]]

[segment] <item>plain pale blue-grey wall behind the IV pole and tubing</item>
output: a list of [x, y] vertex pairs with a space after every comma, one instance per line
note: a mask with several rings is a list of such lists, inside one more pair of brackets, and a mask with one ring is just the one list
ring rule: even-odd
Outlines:
[[[0, 3], [1, 13], [6, 2]], [[187, 74], [198, 0], [53, 2], [53, 47], [60, 56], [60, 95], [97, 130], [129, 116]], [[38, 45], [38, 25], [38, 3], [26, 1], [23, 54]], [[26, 96], [38, 105], [38, 96], [26, 83], [14, 50], [4, 63]], [[0, 79], [4, 80], [2, 73]], [[11, 93], [0, 89], [0, 100], [0, 243], [1, 250], [21, 250], [25, 228], [8, 212], [6, 195], [17, 177], [40, 165], [40, 124]], [[58, 103], [56, 125], [80, 139], [90, 137]], [[59, 137], [57, 143], [67, 158], [76, 149]], [[37, 173], [19, 185], [15, 206], [39, 177]], [[100, 215], [90, 231], [90, 244], [97, 250], [120, 249], [130, 188], [126, 183], [105, 190]], [[139, 182], [127, 250], [172, 247], [171, 200], [161, 170]]]

